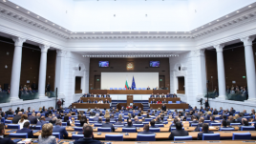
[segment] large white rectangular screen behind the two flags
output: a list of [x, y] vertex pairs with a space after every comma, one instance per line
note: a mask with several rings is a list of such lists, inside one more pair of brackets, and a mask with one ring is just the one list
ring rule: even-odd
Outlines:
[[128, 86], [132, 87], [133, 76], [136, 88], [147, 88], [151, 90], [159, 87], [159, 72], [101, 72], [101, 90], [110, 88], [124, 88], [126, 80]]

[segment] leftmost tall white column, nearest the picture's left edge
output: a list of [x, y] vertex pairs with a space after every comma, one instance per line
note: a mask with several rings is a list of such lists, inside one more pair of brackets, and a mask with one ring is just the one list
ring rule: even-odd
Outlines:
[[20, 71], [21, 71], [21, 57], [22, 57], [22, 45], [26, 41], [24, 38], [13, 37], [12, 40], [15, 42], [15, 48], [12, 60], [11, 69], [11, 101], [19, 99], [19, 82], [20, 82]]

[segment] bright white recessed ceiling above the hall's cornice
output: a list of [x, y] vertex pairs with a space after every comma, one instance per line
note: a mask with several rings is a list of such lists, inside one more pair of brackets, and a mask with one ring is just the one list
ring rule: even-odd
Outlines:
[[256, 0], [10, 1], [69, 31], [191, 31], [256, 2]]

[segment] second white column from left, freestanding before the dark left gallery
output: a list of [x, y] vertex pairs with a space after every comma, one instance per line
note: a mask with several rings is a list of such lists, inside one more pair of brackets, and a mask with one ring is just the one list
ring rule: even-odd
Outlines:
[[39, 95], [39, 98], [46, 98], [45, 80], [46, 80], [47, 51], [50, 47], [46, 45], [40, 45], [39, 47], [41, 49], [41, 59], [40, 59], [40, 68], [39, 68], [38, 95]]

